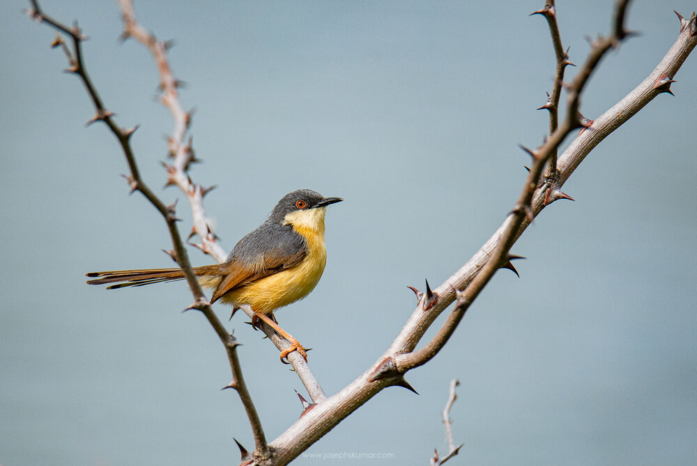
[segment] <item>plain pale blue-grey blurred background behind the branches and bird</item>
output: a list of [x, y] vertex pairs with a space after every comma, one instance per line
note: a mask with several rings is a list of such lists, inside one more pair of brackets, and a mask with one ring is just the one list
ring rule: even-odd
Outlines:
[[[112, 1], [43, 1], [79, 20], [89, 73], [161, 190], [169, 114], [148, 52], [121, 45]], [[571, 61], [607, 33], [611, 2], [559, 1]], [[602, 114], [674, 42], [694, 1], [635, 1], [641, 32], [592, 77], [581, 109]], [[54, 31], [0, 4], [0, 465], [236, 463], [253, 447], [217, 337], [182, 283], [105, 291], [95, 270], [171, 266], [167, 230], [119, 176], [127, 167]], [[141, 24], [174, 39], [171, 66], [196, 107], [192, 179], [230, 250], [291, 190], [346, 200], [327, 216], [328, 264], [305, 301], [277, 313], [336, 393], [387, 348], [415, 306], [512, 209], [547, 113], [553, 49], [542, 0], [499, 2], [138, 1]], [[568, 77], [574, 75], [569, 68]], [[308, 453], [391, 459], [300, 465], [697, 463], [697, 57], [593, 151], [516, 243], [434, 361], [386, 389]], [[181, 231], [190, 230], [185, 202]], [[194, 264], [208, 264], [192, 249]], [[221, 317], [229, 309], [216, 306]], [[443, 316], [441, 316], [443, 317]], [[437, 326], [443, 321], [439, 319]], [[269, 439], [300, 414], [302, 384], [237, 315], [230, 329]], [[427, 338], [431, 333], [427, 334]]]

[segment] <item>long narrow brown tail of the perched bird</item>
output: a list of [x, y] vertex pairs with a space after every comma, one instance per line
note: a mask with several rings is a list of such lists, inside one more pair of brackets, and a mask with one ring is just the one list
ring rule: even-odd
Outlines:
[[[210, 276], [220, 273], [220, 264], [204, 265], [194, 267], [197, 276]], [[135, 269], [135, 270], [114, 270], [107, 272], [90, 272], [86, 277], [99, 277], [95, 280], [87, 280], [88, 285], [110, 285], [107, 290], [114, 290], [123, 287], [141, 287], [152, 283], [171, 282], [183, 280], [184, 272], [181, 269]]]

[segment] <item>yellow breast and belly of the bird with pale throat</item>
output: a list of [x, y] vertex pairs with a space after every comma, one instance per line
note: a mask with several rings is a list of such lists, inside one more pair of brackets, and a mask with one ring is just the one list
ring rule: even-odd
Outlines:
[[305, 238], [307, 254], [300, 264], [224, 294], [220, 300], [233, 306], [249, 304], [256, 313], [270, 314], [305, 298], [319, 283], [327, 262], [325, 211], [325, 207], [295, 211], [285, 218], [285, 224], [292, 225], [293, 230]]

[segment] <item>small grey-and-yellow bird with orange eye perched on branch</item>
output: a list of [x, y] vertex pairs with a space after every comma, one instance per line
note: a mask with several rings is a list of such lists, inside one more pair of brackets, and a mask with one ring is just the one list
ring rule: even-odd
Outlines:
[[[324, 216], [340, 197], [323, 197], [309, 189], [286, 194], [253, 232], [235, 245], [222, 264], [194, 267], [202, 286], [213, 290], [211, 303], [222, 301], [234, 310], [248, 304], [254, 311], [252, 326], [269, 324], [291, 343], [281, 352], [281, 362], [293, 351], [307, 361], [305, 348], [278, 325], [274, 310], [305, 298], [319, 282], [327, 261]], [[136, 269], [90, 272], [89, 285], [116, 283], [107, 290], [182, 280], [181, 269]]]

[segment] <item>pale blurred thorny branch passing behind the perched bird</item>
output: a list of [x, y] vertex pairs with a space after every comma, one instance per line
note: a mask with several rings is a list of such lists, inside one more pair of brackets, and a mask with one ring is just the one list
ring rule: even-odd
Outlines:
[[[217, 262], [224, 262], [227, 259], [227, 253], [217, 243], [217, 236], [215, 236], [210, 227], [211, 222], [206, 218], [204, 209], [204, 196], [215, 186], [204, 188], [199, 184], [194, 184], [187, 174], [190, 165], [197, 162], [198, 159], [194, 156], [192, 137], [189, 136], [187, 139], [192, 121], [192, 112], [185, 112], [181, 103], [179, 103], [178, 88], [181, 87], [181, 81], [174, 77], [167, 59], [167, 52], [171, 48], [171, 42], [158, 40], [153, 33], [148, 32], [138, 24], [132, 0], [118, 0], [118, 3], [123, 20], [123, 34], [121, 37], [123, 40], [135, 38], [135, 40], [150, 50], [160, 75], [160, 91], [162, 92], [160, 102], [169, 109], [174, 118], [174, 130], [171, 136], [167, 138], [169, 156], [173, 159], [173, 162], [171, 165], [163, 163], [165, 170], [167, 170], [166, 186], [178, 186], [189, 200], [193, 223], [189, 238], [197, 234], [201, 239], [200, 243], [190, 244], [213, 256]], [[242, 310], [249, 317], [254, 315], [249, 306], [243, 306]], [[284, 338], [279, 337], [275, 330], [265, 322], [260, 322], [259, 328], [263, 333], [266, 333], [269, 340], [279, 350], [284, 350], [290, 345]], [[298, 352], [289, 354], [288, 361], [315, 403], [327, 398], [312, 370], [307, 365], [307, 361]]]

